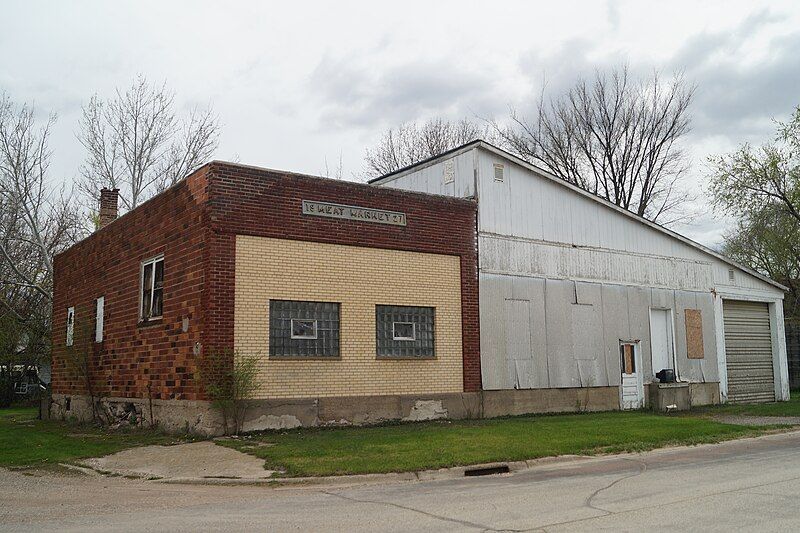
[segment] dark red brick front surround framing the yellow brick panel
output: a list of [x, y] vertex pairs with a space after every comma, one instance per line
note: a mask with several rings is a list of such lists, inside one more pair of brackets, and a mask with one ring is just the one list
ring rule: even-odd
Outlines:
[[[481, 388], [477, 208], [474, 202], [363, 184], [212, 163], [209, 342], [233, 346], [235, 235], [372, 246], [461, 257], [464, 390]], [[406, 226], [302, 214], [302, 201], [402, 211]], [[358, 268], [354, 265], [353, 268]], [[218, 327], [217, 327], [218, 326]]]

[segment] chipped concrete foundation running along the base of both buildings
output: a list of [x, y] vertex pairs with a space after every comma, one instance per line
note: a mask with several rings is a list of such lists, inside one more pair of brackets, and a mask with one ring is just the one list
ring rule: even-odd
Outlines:
[[[692, 405], [719, 403], [719, 386], [716, 383], [690, 384], [688, 391]], [[112, 424], [150, 425], [151, 406], [147, 399], [103, 398], [98, 407], [104, 413], [104, 418]], [[617, 409], [617, 387], [251, 400], [242, 429], [249, 432], [314, 426], [360, 426], [401, 420], [458, 420]], [[50, 414], [60, 420], [92, 419], [91, 404], [86, 396], [81, 395], [53, 395]], [[222, 432], [222, 415], [204, 401], [153, 400], [152, 419], [159, 427], [170, 432], [189, 431], [203, 435]]]

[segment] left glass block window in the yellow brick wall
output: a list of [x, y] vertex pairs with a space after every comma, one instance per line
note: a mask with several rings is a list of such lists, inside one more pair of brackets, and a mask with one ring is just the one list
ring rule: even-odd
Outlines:
[[339, 304], [269, 301], [269, 355], [339, 356]]

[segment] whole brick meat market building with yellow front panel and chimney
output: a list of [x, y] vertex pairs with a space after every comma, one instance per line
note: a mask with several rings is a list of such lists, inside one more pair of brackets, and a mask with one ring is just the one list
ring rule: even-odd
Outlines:
[[245, 429], [476, 415], [474, 202], [214, 162], [100, 214], [54, 261], [54, 416], [89, 417], [90, 386], [219, 432], [210, 353], [258, 358]]

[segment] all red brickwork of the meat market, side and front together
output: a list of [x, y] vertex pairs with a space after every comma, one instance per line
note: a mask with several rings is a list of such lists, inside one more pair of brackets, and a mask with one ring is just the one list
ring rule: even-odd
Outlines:
[[[407, 226], [301, 214], [302, 200], [402, 211]], [[92, 344], [95, 388], [107, 396], [203, 399], [195, 343], [233, 348], [236, 235], [458, 255], [464, 390], [481, 387], [476, 205], [466, 200], [211, 163], [55, 258], [53, 392], [82, 393], [64, 364], [67, 308], [76, 331], [105, 296], [105, 339]], [[164, 254], [164, 318], [139, 319], [139, 265]], [[354, 265], [354, 268], [358, 268]], [[181, 323], [189, 318], [189, 330]], [[79, 339], [76, 339], [76, 344]]]

